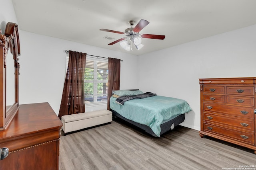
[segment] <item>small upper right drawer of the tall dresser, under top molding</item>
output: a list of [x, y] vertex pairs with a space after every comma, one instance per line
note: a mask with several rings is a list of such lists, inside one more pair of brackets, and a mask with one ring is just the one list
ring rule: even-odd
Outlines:
[[254, 87], [227, 86], [226, 94], [254, 96]]

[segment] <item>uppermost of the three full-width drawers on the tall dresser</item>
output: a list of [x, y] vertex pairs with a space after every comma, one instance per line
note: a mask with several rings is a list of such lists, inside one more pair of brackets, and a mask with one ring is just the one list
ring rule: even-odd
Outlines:
[[214, 103], [204, 103], [203, 107], [204, 111], [254, 119], [254, 107], [228, 106]]

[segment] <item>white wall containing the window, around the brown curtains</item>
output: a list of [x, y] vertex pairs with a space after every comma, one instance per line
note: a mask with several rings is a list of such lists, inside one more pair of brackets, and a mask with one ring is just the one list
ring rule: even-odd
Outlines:
[[20, 104], [49, 102], [58, 114], [66, 76], [65, 50], [123, 60], [120, 89], [138, 87], [137, 56], [26, 31], [20, 31], [20, 47]]

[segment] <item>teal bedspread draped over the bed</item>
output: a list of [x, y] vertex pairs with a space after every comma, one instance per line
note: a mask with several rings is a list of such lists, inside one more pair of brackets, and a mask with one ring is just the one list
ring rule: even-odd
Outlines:
[[163, 121], [191, 110], [185, 100], [164, 96], [130, 100], [124, 105], [117, 104], [116, 98], [111, 97], [110, 108], [126, 119], [149, 126], [158, 137]]

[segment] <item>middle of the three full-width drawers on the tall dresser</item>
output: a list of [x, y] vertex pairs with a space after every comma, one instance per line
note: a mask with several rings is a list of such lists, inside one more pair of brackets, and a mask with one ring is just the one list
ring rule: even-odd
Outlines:
[[242, 130], [254, 132], [254, 120], [238, 119], [238, 118], [234, 119], [234, 117], [225, 117], [225, 116], [207, 114], [207, 113], [204, 113], [204, 120], [209, 122], [226, 124], [238, 130], [242, 129]]

